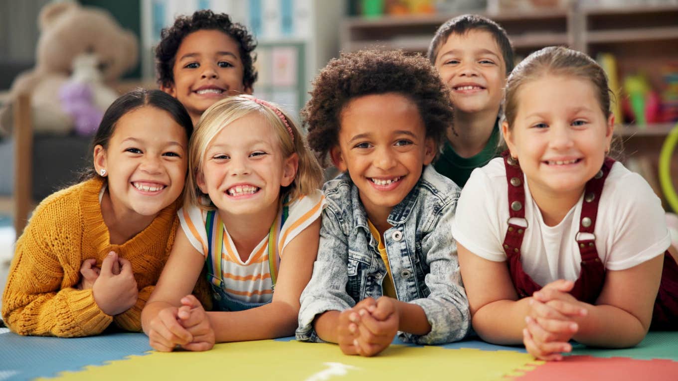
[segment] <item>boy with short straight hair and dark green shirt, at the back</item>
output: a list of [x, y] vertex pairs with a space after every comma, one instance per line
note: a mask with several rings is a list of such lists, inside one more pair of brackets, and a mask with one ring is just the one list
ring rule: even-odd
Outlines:
[[447, 20], [428, 47], [428, 60], [448, 87], [454, 127], [435, 169], [464, 187], [473, 169], [500, 153], [499, 117], [513, 47], [504, 28], [483, 16]]

